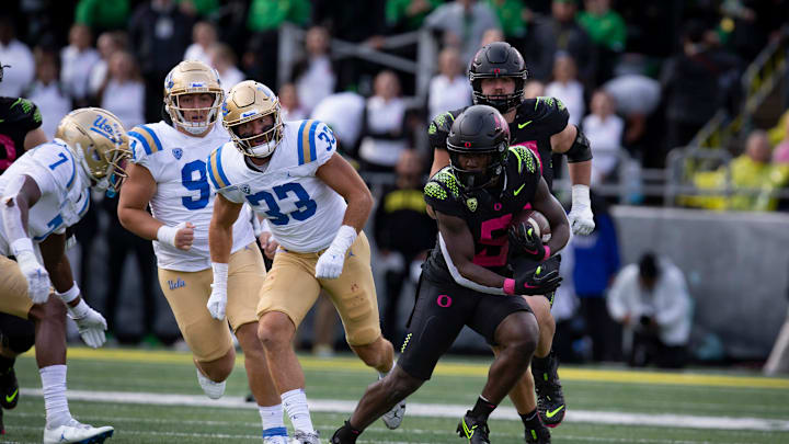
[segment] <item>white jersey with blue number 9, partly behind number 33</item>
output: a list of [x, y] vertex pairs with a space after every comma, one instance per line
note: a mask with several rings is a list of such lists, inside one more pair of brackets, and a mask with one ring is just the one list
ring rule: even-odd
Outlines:
[[[188, 251], [153, 241], [160, 269], [194, 272], [210, 267], [208, 225], [214, 212], [214, 192], [206, 177], [206, 159], [229, 139], [220, 124], [204, 137], [180, 133], [165, 122], [141, 125], [128, 132], [133, 162], [150, 171], [157, 192], [150, 201], [153, 217], [169, 226], [194, 224], [194, 242]], [[235, 252], [254, 241], [252, 223], [242, 215], [233, 225]]]

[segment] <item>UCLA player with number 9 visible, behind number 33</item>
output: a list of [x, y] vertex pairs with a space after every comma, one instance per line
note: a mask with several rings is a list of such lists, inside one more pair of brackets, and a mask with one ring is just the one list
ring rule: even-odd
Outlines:
[[230, 323], [244, 352], [265, 437], [271, 429], [284, 430], [283, 412], [256, 335], [258, 293], [265, 266], [249, 217], [233, 224], [233, 242], [228, 244], [227, 320], [225, 316], [211, 318], [206, 309], [211, 293], [208, 223], [215, 193], [208, 185], [205, 160], [229, 140], [217, 125], [222, 99], [219, 77], [207, 65], [186, 60], [170, 71], [164, 81], [169, 121], [129, 132], [134, 157], [121, 193], [118, 218], [129, 231], [153, 241], [159, 284], [192, 350], [197, 380], [211, 399], [225, 392], [236, 361]]

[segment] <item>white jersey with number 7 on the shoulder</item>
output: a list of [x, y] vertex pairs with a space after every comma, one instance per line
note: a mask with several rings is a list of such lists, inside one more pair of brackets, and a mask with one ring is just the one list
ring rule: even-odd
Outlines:
[[[34, 243], [50, 234], [61, 235], [88, 213], [90, 180], [77, 164], [73, 151], [55, 139], [25, 152], [0, 175], [0, 195], [15, 177], [30, 175], [41, 190], [41, 197], [30, 208], [27, 235]], [[0, 251], [11, 254], [4, 224], [0, 223]]]

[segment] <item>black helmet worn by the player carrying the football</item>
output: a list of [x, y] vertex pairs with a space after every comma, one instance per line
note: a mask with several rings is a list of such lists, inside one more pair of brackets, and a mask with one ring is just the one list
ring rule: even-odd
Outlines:
[[[449, 166], [464, 190], [478, 190], [492, 184], [504, 172], [510, 126], [496, 109], [472, 105], [453, 123], [447, 137]], [[460, 155], [487, 155], [488, 166], [480, 170], [466, 170]]]

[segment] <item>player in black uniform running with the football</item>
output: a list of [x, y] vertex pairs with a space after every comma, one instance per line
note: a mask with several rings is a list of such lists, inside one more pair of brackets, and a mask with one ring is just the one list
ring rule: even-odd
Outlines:
[[[504, 118], [491, 106], [470, 106], [454, 122], [447, 141], [450, 167], [425, 185], [439, 236], [423, 267], [408, 326], [411, 340], [395, 369], [368, 387], [332, 444], [355, 443], [376, 418], [430, 379], [464, 326], [501, 350], [476, 406], [458, 425], [470, 443], [490, 443], [488, 417], [521, 379], [539, 338], [538, 315], [515, 295], [542, 295], [558, 287], [559, 260], [551, 251], [570, 237], [564, 212], [540, 177], [536, 156], [508, 144]], [[528, 206], [556, 225], [554, 238], [542, 246], [528, 232], [517, 248], [525, 247], [537, 265], [510, 276], [508, 250], [516, 247], [508, 243], [507, 231], [513, 216]]]

